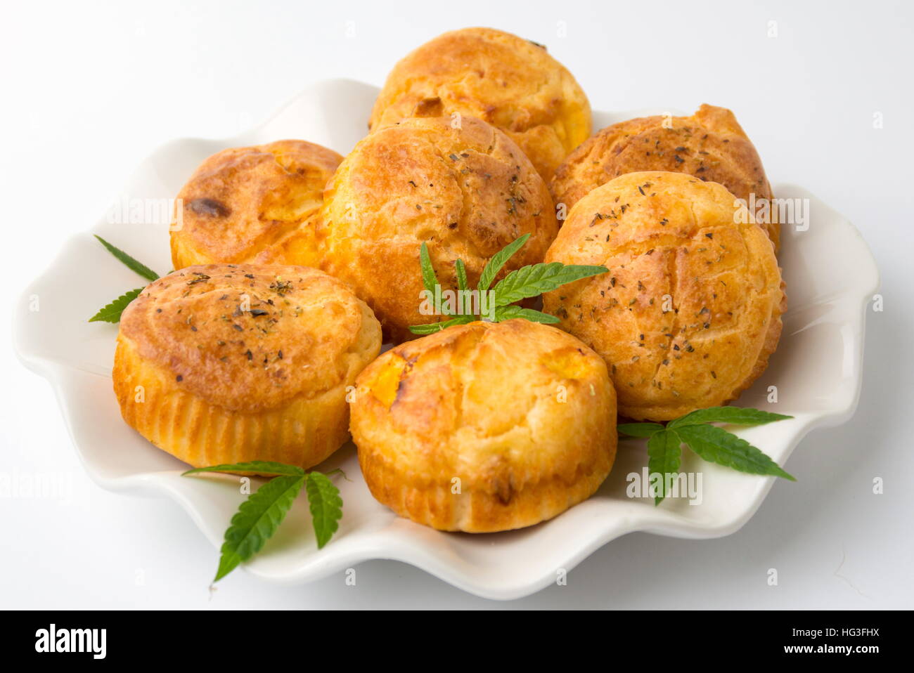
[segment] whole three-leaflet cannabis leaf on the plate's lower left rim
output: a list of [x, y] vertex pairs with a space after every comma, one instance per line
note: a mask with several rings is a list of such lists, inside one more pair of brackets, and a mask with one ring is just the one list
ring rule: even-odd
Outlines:
[[320, 472], [305, 472], [295, 465], [266, 460], [246, 463], [213, 465], [207, 468], [188, 469], [182, 476], [203, 472], [228, 472], [232, 474], [269, 475], [271, 480], [248, 496], [232, 517], [225, 534], [219, 556], [218, 570], [213, 582], [218, 582], [260, 552], [263, 545], [280, 527], [292, 503], [304, 486], [307, 490], [311, 521], [317, 548], [330, 541], [343, 517], [343, 499], [339, 489]]

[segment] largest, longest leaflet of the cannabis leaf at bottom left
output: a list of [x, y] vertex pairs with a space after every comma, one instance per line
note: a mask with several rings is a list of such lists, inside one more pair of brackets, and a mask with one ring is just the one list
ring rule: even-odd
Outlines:
[[239, 563], [260, 552], [285, 519], [292, 502], [302, 490], [304, 480], [304, 475], [274, 478], [241, 503], [226, 531], [213, 582], [218, 582]]

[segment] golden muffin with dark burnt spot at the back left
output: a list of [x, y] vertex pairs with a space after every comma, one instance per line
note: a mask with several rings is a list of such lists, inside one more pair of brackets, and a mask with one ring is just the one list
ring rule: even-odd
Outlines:
[[178, 194], [171, 232], [175, 268], [192, 264], [318, 266], [314, 220], [343, 160], [304, 141], [223, 150], [200, 164]]

